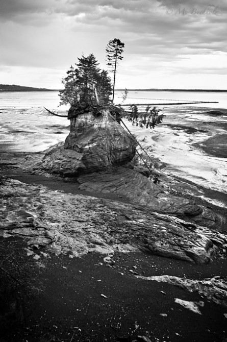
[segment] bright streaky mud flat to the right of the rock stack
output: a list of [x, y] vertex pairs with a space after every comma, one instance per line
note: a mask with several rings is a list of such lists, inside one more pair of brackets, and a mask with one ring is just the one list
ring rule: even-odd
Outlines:
[[162, 111], [166, 117], [153, 131], [127, 125], [147, 151], [165, 164], [164, 172], [227, 193], [226, 109], [219, 114], [187, 106], [164, 107]]

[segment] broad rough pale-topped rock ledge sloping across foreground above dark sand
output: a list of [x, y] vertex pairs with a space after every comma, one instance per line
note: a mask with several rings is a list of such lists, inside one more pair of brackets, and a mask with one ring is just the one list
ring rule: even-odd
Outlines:
[[89, 251], [143, 250], [206, 264], [225, 252], [223, 234], [172, 215], [89, 196], [51, 191], [44, 186], [1, 179], [0, 232], [22, 236], [29, 246], [74, 256]]

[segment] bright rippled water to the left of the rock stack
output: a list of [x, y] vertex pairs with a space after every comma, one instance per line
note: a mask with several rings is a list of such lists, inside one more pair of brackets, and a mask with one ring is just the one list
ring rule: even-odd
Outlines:
[[[0, 93], [0, 151], [39, 152], [63, 141], [67, 118], [48, 115], [43, 107], [58, 109], [57, 91]], [[67, 115], [65, 106], [61, 114]]]

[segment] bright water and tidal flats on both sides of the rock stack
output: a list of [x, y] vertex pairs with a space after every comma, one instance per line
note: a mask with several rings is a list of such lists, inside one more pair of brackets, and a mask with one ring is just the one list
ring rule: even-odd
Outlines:
[[[115, 103], [122, 101], [116, 92]], [[151, 154], [167, 164], [165, 172], [188, 179], [206, 188], [227, 193], [227, 156], [208, 156], [193, 145], [215, 134], [227, 134], [227, 114], [211, 115], [207, 111], [222, 108], [227, 112], [227, 93], [130, 91], [125, 103], [176, 103], [218, 101], [217, 104], [160, 106], [166, 117], [155, 130], [127, 126], [144, 139]], [[44, 151], [64, 141], [69, 133], [67, 118], [47, 115], [43, 107], [67, 115], [69, 106], [59, 106], [58, 91], [0, 93], [0, 152]], [[193, 127], [193, 133], [174, 130], [172, 124]], [[227, 143], [227, 142], [226, 142]]]

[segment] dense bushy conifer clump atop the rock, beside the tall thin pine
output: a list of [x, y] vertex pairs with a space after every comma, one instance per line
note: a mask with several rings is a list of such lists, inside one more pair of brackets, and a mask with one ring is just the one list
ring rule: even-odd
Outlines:
[[112, 93], [111, 79], [106, 70], [101, 70], [93, 54], [78, 58], [76, 67], [71, 66], [62, 79], [64, 89], [60, 90], [60, 105], [108, 104]]

